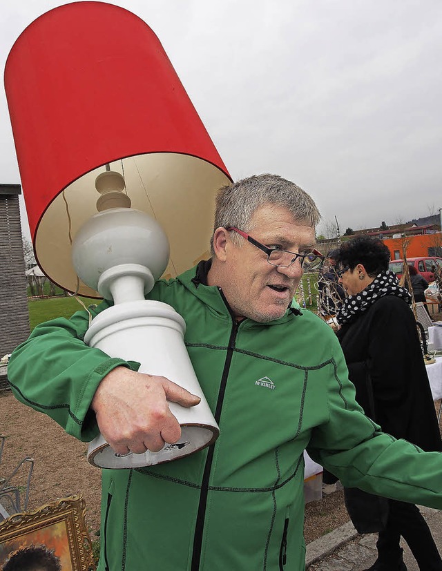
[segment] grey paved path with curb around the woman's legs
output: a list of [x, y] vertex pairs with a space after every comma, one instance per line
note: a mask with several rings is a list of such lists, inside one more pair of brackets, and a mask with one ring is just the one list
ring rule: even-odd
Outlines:
[[[442, 554], [442, 511], [430, 507], [420, 509]], [[357, 534], [351, 522], [345, 523], [307, 545], [307, 570], [363, 571], [376, 561], [376, 537], [376, 534]], [[403, 549], [407, 570], [419, 571], [406, 543]]]

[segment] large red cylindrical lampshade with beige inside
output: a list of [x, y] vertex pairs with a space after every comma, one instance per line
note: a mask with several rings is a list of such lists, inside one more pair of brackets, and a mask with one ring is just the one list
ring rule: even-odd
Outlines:
[[166, 231], [166, 273], [204, 254], [215, 191], [231, 179], [144, 21], [102, 2], [50, 10], [12, 47], [5, 86], [35, 255], [53, 282], [97, 296], [77, 283], [70, 249], [106, 164]]

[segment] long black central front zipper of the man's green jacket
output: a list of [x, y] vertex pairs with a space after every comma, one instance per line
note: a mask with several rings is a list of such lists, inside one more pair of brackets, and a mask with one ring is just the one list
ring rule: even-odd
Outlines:
[[[229, 338], [229, 346], [227, 347], [227, 356], [224, 362], [224, 370], [222, 371], [222, 378], [220, 384], [220, 391], [218, 393], [218, 400], [216, 403], [215, 409], [215, 420], [219, 424], [221, 418], [221, 411], [222, 411], [222, 403], [224, 401], [224, 394], [226, 391], [227, 385], [227, 378], [229, 376], [229, 369], [230, 364], [233, 356], [233, 349], [235, 349], [235, 342], [236, 336], [238, 334], [238, 327], [240, 326], [240, 322], [236, 321], [229, 304], [227, 303], [226, 298], [224, 298], [224, 294], [222, 293], [221, 288], [218, 288], [220, 291], [220, 295], [222, 300], [229, 309], [229, 313], [232, 318], [232, 329]], [[202, 549], [202, 535], [204, 532], [204, 519], [206, 516], [206, 504], [207, 504], [207, 496], [209, 494], [209, 479], [212, 469], [213, 463], [213, 454], [215, 452], [215, 445], [209, 446], [209, 451], [207, 452], [206, 458], [206, 465], [204, 466], [204, 474], [202, 476], [202, 483], [201, 483], [201, 492], [200, 492], [200, 503], [198, 505], [198, 514], [196, 518], [196, 525], [195, 525], [195, 535], [193, 537], [193, 553], [192, 553], [192, 563], [191, 563], [191, 571], [198, 571], [200, 569], [200, 560], [201, 560], [201, 549]]]

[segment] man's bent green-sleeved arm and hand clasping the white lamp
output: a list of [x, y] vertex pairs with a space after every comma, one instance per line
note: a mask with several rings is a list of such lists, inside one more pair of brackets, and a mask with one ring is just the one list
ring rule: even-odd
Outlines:
[[[101, 304], [95, 313], [105, 307]], [[176, 441], [180, 426], [166, 400], [189, 407], [200, 399], [167, 379], [137, 373], [138, 363], [88, 347], [83, 342], [87, 329], [86, 311], [37, 326], [10, 358], [15, 396], [82, 441], [102, 431], [119, 453], [129, 447], [155, 451], [164, 439]]]

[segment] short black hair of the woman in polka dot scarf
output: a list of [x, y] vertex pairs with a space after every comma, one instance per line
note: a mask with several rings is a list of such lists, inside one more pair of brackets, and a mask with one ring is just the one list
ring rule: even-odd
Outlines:
[[370, 278], [373, 278], [388, 269], [390, 250], [382, 240], [359, 234], [340, 246], [336, 261], [340, 267], [349, 269], [363, 264]]

